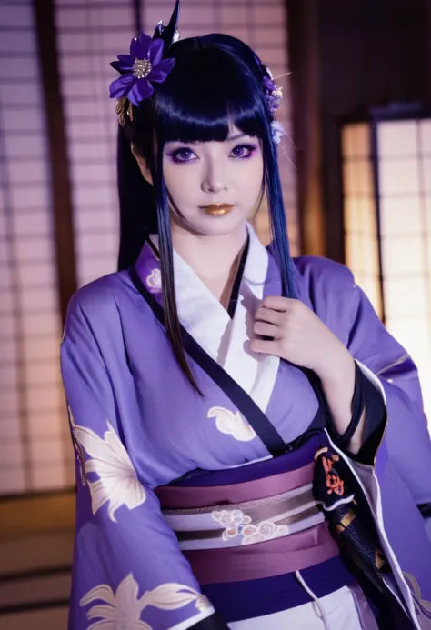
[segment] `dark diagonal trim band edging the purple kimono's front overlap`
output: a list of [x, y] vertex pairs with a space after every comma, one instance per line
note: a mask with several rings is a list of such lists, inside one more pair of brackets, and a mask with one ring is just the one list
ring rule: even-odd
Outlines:
[[[148, 291], [137, 274], [135, 267], [129, 270], [129, 275], [135, 288], [144, 297], [158, 321], [162, 325], [165, 325], [165, 315], [162, 306], [159, 305], [155, 297]], [[276, 430], [276, 427], [271, 424], [251, 396], [227, 374], [223, 367], [218, 365], [211, 356], [205, 353], [205, 350], [187, 333], [184, 326], [181, 326], [181, 332], [183, 334], [184, 347], [187, 355], [223, 389], [234, 405], [236, 405], [236, 408], [246, 418], [248, 424], [254, 429], [256, 435], [258, 435], [264, 445], [266, 445], [269, 453], [276, 456], [286, 453], [286, 450], [290, 450], [289, 446], [286, 445], [286, 442]]]

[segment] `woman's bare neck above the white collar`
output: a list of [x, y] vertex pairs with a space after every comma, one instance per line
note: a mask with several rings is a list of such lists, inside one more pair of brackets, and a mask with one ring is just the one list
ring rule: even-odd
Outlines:
[[246, 223], [226, 235], [196, 235], [172, 224], [174, 249], [223, 305], [230, 298], [246, 245]]

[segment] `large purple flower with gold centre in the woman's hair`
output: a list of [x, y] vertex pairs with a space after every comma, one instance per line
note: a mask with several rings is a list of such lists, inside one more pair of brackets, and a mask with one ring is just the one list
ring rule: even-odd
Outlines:
[[163, 83], [175, 65], [175, 59], [162, 59], [163, 41], [141, 33], [132, 39], [130, 55], [118, 55], [111, 63], [120, 73], [109, 86], [111, 98], [128, 98], [139, 105], [154, 92], [152, 83]]

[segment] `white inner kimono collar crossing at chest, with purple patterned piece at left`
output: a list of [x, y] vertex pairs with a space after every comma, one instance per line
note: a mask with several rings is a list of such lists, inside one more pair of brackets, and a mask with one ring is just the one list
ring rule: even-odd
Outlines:
[[[253, 227], [247, 224], [247, 229], [248, 254], [234, 317], [228, 315], [193, 269], [174, 252], [176, 304], [180, 322], [187, 333], [254, 399], [256, 394], [256, 404], [265, 408], [269, 400], [269, 390], [272, 391], [274, 385], [279, 360], [277, 357], [256, 355], [249, 346], [253, 337], [254, 315], [264, 298], [269, 255]], [[146, 288], [161, 303], [157, 245], [157, 237], [151, 236], [150, 242], [145, 243], [139, 255], [136, 271]], [[268, 371], [270, 365], [272, 369]], [[266, 388], [257, 386], [261, 384], [264, 372], [266, 376], [271, 374], [272, 385], [267, 385]]]

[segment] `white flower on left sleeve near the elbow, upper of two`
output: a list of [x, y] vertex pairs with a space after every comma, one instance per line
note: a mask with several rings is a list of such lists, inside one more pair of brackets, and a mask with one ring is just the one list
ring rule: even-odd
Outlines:
[[[108, 430], [101, 438], [91, 429], [76, 425], [70, 409], [69, 418], [76, 450], [84, 468], [83, 479], [86, 477], [90, 488], [93, 514], [108, 503], [109, 518], [116, 523], [115, 510], [121, 505], [133, 510], [145, 502], [144, 486], [137, 478], [125, 445], [109, 422], [106, 422]], [[91, 459], [85, 460], [82, 449]], [[98, 480], [88, 479], [89, 473], [95, 473]]]

